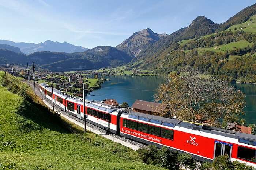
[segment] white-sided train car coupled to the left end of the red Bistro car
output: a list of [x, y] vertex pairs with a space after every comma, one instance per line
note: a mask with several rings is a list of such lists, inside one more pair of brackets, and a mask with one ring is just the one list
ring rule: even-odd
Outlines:
[[86, 122], [115, 134], [120, 133], [120, 108], [101, 102], [88, 102], [86, 103], [86, 115], [88, 116]]

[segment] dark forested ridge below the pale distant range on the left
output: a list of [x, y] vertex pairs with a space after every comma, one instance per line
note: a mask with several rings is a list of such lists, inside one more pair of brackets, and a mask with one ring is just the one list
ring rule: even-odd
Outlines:
[[[117, 67], [129, 63], [132, 57], [110, 46], [98, 46], [85, 52], [65, 53], [39, 51], [29, 55], [0, 49], [0, 64], [26, 64], [35, 62], [53, 71], [79, 70], [80, 68]], [[63, 68], [54, 68], [63, 67]], [[66, 69], [67, 68], [67, 69]], [[76, 69], [70, 69], [76, 68]]]

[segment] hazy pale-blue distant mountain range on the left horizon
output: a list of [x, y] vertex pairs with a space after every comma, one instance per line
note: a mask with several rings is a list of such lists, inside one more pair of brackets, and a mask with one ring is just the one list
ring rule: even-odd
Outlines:
[[20, 50], [25, 54], [31, 54], [37, 51], [54, 51], [54, 52], [84, 52], [87, 48], [81, 46], [74, 46], [73, 44], [69, 44], [67, 42], [59, 43], [53, 42], [50, 40], [45, 41], [44, 43], [15, 43], [13, 41], [8, 40], [0, 40], [0, 43], [7, 44], [10, 46], [19, 47]]

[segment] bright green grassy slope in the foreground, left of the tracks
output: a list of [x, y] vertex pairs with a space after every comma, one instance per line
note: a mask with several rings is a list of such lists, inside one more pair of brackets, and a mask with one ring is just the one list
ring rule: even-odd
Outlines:
[[135, 151], [100, 135], [81, 129], [71, 133], [68, 128], [74, 125], [3, 86], [0, 96], [0, 169], [157, 169], [141, 163]]

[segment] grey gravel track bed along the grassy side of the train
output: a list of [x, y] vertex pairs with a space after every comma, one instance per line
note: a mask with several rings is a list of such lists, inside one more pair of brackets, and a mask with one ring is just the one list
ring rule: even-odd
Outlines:
[[[26, 84], [28, 84], [28, 81], [27, 81], [27, 80], [22, 80], [22, 81], [25, 82]], [[34, 82], [31, 82], [31, 81], [30, 81], [30, 87], [34, 89]], [[45, 96], [42, 95], [42, 93], [41, 93], [40, 90], [39, 90], [39, 84], [38, 84], [38, 83], [35, 83], [35, 91], [36, 91], [36, 95], [38, 95], [41, 99], [46, 100], [46, 102], [52, 106], [52, 100], [50, 100], [50, 99], [45, 99]], [[77, 117], [75, 117], [75, 116], [73, 116], [73, 115], [68, 114], [67, 112], [65, 112], [65, 111], [63, 110], [63, 108], [61, 108], [61, 107], [59, 107], [59, 106], [54, 105], [54, 110], [55, 110], [55, 111], [56, 111], [56, 110], [57, 110], [57, 111], [60, 111], [62, 114], [64, 114], [64, 115], [66, 115], [66, 116], [68, 116], [68, 117], [70, 117], [70, 118], [76, 120], [77, 122], [83, 123], [83, 120], [81, 120], [81, 119], [79, 119], [79, 118], [77, 118]], [[131, 139], [118, 136], [118, 135], [116, 135], [116, 134], [113, 134], [113, 133], [111, 133], [111, 132], [109, 132], [109, 131], [106, 131], [106, 130], [104, 130], [104, 129], [101, 129], [100, 127], [97, 127], [97, 126], [95, 126], [95, 125], [93, 125], [93, 124], [90, 124], [90, 123], [88, 123], [88, 122], [86, 122], [86, 126], [91, 127], [91, 128], [94, 129], [94, 130], [100, 131], [100, 132], [102, 132], [103, 134], [108, 134], [108, 135], [110, 135], [110, 136], [112, 136], [112, 137], [114, 137], [114, 138], [117, 138], [117, 139], [120, 139], [120, 140], [122, 140], [122, 141], [124, 141], [124, 142], [130, 143], [131, 145], [135, 145], [135, 146], [138, 146], [138, 147], [147, 147], [146, 145], [144, 145], [144, 144], [142, 144], [142, 143], [140, 143], [140, 142], [136, 142], [136, 141], [133, 141], [133, 140], [131, 140]]]

